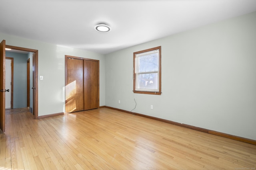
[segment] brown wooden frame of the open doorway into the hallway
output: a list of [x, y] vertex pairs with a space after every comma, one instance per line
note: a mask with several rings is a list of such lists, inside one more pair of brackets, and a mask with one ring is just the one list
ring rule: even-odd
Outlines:
[[12, 45], [5, 45], [6, 48], [14, 49], [14, 50], [20, 50], [20, 51], [28, 51], [34, 53], [34, 61], [33, 61], [33, 71], [34, 71], [34, 97], [33, 97], [33, 112], [34, 112], [34, 118], [38, 119], [38, 50], [36, 49], [28, 49], [23, 47], [16, 47]]

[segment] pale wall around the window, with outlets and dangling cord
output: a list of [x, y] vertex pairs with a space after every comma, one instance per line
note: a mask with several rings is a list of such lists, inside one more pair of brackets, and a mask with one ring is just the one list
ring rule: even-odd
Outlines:
[[[133, 52], [157, 46], [162, 95], [134, 94]], [[135, 99], [136, 113], [256, 140], [256, 12], [116, 51], [105, 62], [106, 106], [131, 111]]]

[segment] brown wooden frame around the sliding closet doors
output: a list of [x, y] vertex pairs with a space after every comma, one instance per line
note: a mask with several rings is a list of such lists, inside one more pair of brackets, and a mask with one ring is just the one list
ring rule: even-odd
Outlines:
[[[82, 58], [82, 57], [75, 57], [75, 56], [70, 56], [70, 55], [65, 55], [65, 86], [67, 85], [67, 80], [68, 80], [68, 70], [67, 70], [67, 60], [71, 58], [71, 59], [80, 59], [80, 60], [87, 60], [87, 61], [96, 61], [98, 63], [98, 108], [100, 106], [100, 61], [99, 60], [94, 60], [94, 59], [87, 59], [87, 58]], [[66, 87], [65, 87], [66, 89]], [[65, 90], [65, 94], [66, 94], [66, 90]], [[67, 99], [66, 99], [66, 95], [65, 95], [65, 111], [67, 113]]]

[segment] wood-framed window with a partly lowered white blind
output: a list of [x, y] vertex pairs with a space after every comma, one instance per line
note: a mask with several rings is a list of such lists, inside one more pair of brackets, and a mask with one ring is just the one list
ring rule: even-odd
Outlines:
[[161, 46], [133, 53], [133, 92], [161, 95]]

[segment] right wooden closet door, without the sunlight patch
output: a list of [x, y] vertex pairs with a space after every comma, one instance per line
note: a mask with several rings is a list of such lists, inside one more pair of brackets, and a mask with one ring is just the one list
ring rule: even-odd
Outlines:
[[99, 61], [84, 60], [84, 110], [99, 107]]

